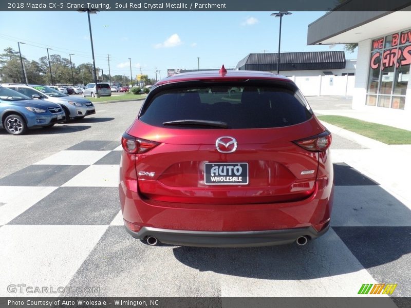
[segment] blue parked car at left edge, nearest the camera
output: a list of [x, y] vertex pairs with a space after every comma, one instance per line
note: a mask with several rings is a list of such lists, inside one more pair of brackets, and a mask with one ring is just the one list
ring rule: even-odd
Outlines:
[[63, 122], [61, 106], [33, 100], [17, 91], [0, 86], [0, 128], [8, 133], [24, 134], [28, 128], [51, 127]]

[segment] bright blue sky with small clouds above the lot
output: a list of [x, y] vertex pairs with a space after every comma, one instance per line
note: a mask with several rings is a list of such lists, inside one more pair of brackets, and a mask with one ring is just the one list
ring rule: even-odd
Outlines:
[[[271, 12], [99, 12], [91, 14], [96, 66], [112, 75], [133, 76], [140, 72], [161, 78], [167, 69], [234, 68], [249, 53], [277, 52], [279, 18]], [[307, 27], [325, 12], [293, 12], [283, 17], [282, 52], [343, 50], [343, 45], [307, 46]], [[67, 57], [74, 64], [91, 62], [86, 13], [2, 12], [0, 50], [17, 49], [28, 60], [51, 54]], [[32, 46], [35, 45], [35, 46]], [[356, 53], [346, 52], [347, 59]], [[158, 77], [159, 77], [158, 75]]]

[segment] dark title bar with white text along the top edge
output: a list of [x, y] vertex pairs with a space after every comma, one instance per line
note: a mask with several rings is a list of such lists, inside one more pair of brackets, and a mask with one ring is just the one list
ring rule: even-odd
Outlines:
[[1, 11], [410, 11], [409, 0], [2, 0]]

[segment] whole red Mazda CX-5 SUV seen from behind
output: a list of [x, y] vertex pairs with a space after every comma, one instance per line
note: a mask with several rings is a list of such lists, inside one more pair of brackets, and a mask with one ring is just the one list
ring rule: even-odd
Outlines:
[[304, 245], [329, 227], [330, 144], [284, 76], [222, 67], [161, 80], [122, 137], [125, 227], [150, 245]]

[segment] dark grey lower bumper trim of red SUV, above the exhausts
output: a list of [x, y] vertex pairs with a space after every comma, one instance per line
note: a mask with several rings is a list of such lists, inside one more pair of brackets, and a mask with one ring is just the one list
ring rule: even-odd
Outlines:
[[316, 239], [326, 233], [329, 226], [327, 225], [320, 232], [317, 232], [312, 226], [248, 232], [204, 232], [142, 227], [137, 233], [125, 228], [134, 238], [145, 240], [147, 237], [153, 236], [164, 244], [198, 247], [255, 247], [289, 244], [301, 236]]

